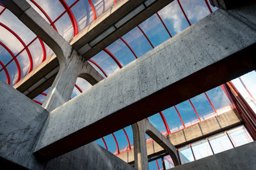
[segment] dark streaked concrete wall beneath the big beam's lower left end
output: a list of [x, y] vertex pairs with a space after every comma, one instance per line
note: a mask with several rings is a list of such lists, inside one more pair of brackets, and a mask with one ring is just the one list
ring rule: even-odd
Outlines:
[[134, 167], [125, 163], [123, 160], [113, 155], [113, 153], [108, 152], [96, 143], [89, 143], [72, 152], [61, 155], [56, 159], [50, 160], [45, 169], [132, 170]]

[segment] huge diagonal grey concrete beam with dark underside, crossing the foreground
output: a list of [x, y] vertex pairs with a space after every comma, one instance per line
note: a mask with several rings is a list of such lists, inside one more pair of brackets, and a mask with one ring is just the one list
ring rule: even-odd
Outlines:
[[57, 157], [252, 71], [255, 11], [217, 10], [56, 108], [35, 153]]

